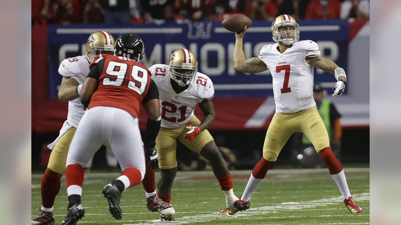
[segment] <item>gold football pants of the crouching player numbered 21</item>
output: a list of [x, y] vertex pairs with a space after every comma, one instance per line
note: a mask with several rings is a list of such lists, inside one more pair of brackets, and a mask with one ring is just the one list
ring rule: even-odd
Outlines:
[[180, 141], [188, 149], [200, 153], [202, 148], [213, 140], [212, 135], [209, 131], [202, 131], [193, 141], [186, 141], [184, 136], [189, 131], [185, 126], [192, 125], [197, 127], [201, 122], [194, 115], [188, 120], [188, 122], [177, 128], [169, 129], [160, 127], [159, 134], [156, 138], [156, 151], [158, 153], [159, 168], [160, 169], [172, 169], [177, 167], [176, 149], [177, 142]]

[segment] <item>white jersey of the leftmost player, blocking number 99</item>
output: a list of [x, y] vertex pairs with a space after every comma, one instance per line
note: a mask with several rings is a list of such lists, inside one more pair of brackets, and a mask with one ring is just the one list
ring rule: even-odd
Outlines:
[[[59, 74], [68, 78], [73, 78], [78, 82], [78, 84], [83, 84], [83, 81], [89, 74], [88, 57], [85, 55], [66, 58], [60, 64]], [[67, 122], [71, 126], [78, 127], [78, 123], [81, 121], [84, 113], [85, 110], [83, 109], [83, 104], [79, 98], [68, 102]]]

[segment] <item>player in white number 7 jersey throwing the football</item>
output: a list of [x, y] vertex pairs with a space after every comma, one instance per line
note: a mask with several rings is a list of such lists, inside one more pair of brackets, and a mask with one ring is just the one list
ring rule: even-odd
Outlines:
[[[245, 59], [243, 37], [247, 27], [235, 34], [234, 68], [257, 73], [267, 69], [273, 76], [276, 111], [266, 132], [263, 157], [253, 168], [241, 200], [248, 201], [267, 170], [276, 161], [284, 144], [295, 132], [304, 133], [327, 164], [330, 175], [351, 213], [363, 211], [352, 199], [344, 171], [330, 148], [328, 133], [313, 99], [313, 67], [334, 74], [334, 94], [344, 92], [346, 74], [333, 61], [320, 56], [319, 46], [311, 40], [299, 41], [299, 26], [289, 15], [280, 15], [271, 24], [275, 44], [263, 46], [258, 57]], [[235, 211], [229, 211], [232, 215]]]

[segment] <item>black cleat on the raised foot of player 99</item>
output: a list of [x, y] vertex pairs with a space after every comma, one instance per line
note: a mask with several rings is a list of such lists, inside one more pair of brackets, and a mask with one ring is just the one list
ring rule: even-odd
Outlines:
[[114, 219], [121, 219], [122, 211], [120, 205], [120, 197], [122, 196], [118, 188], [112, 184], [108, 184], [103, 187], [103, 191], [101, 193], [103, 193], [104, 197], [109, 203], [109, 211], [111, 216], [113, 216]]

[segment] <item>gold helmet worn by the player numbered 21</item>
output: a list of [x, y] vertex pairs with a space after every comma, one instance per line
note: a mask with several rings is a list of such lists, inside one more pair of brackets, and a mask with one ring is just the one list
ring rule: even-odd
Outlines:
[[198, 71], [194, 54], [185, 48], [175, 50], [170, 56], [170, 76], [180, 86], [188, 86]]

